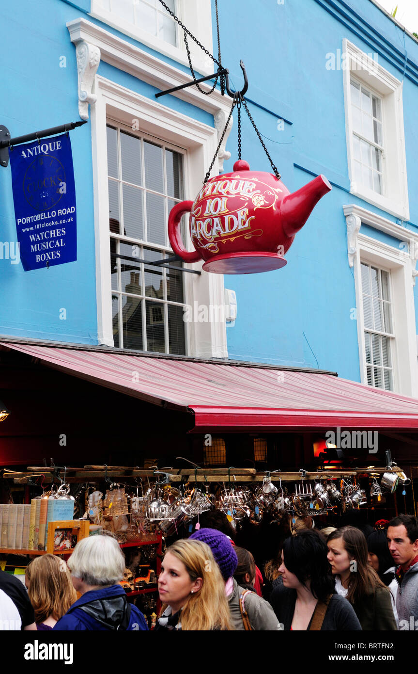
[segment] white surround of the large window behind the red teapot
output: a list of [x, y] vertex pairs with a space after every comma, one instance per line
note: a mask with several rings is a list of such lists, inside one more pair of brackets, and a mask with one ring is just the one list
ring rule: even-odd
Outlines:
[[[184, 156], [184, 195], [193, 200], [201, 189], [201, 177], [217, 148], [217, 130], [191, 117], [141, 96], [115, 82], [96, 75], [96, 104], [91, 107], [94, 179], [94, 220], [96, 232], [96, 293], [98, 340], [113, 346], [112, 288], [110, 277], [109, 202], [106, 123], [110, 119], [131, 126], [139, 121], [138, 133], [151, 135], [186, 151]], [[216, 163], [216, 162], [215, 162]], [[215, 166], [215, 171], [216, 171]], [[189, 247], [191, 243], [189, 242]], [[187, 266], [187, 265], [185, 265]], [[193, 265], [201, 269], [202, 263]], [[223, 275], [184, 274], [184, 302], [223, 305]], [[186, 355], [228, 358], [225, 321], [186, 323]]]

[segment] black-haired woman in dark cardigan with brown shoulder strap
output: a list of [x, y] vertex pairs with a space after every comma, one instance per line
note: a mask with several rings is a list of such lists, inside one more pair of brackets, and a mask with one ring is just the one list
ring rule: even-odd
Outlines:
[[281, 578], [271, 593], [271, 605], [284, 630], [361, 630], [343, 597], [335, 594], [326, 543], [306, 530], [283, 543]]

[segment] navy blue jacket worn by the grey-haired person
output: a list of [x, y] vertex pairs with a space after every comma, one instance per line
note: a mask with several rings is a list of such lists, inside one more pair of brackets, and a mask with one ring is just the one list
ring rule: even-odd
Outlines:
[[[106, 605], [95, 604], [98, 607], [96, 620], [92, 615], [85, 613], [79, 607], [92, 602], [100, 602], [106, 600]], [[126, 593], [120, 585], [112, 585], [110, 587], [100, 588], [100, 590], [90, 590], [85, 592], [80, 599], [68, 609], [67, 613], [56, 623], [54, 630], [111, 630], [120, 622], [120, 607], [126, 601]], [[110, 610], [109, 610], [110, 607]], [[114, 613], [112, 613], [114, 608]], [[108, 623], [110, 626], [106, 627], [103, 623]], [[128, 631], [145, 631], [148, 625], [143, 617], [143, 613], [137, 609], [133, 604], [131, 605], [131, 616], [129, 619]]]

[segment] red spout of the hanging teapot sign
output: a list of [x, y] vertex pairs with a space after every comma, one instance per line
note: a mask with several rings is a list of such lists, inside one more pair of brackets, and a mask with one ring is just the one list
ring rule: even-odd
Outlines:
[[284, 197], [280, 212], [283, 231], [288, 237], [294, 237], [304, 226], [314, 206], [331, 189], [326, 177], [318, 175], [308, 185]]

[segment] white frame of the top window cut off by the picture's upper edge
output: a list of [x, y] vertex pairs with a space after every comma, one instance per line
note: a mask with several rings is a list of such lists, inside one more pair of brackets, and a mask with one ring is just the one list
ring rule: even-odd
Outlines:
[[[178, 18], [190, 30], [190, 32], [197, 37], [199, 42], [212, 53], [212, 18], [211, 18], [211, 0], [177, 0]], [[161, 5], [161, 9], [164, 7]], [[102, 7], [100, 0], [91, 0], [90, 16], [99, 19], [100, 21], [116, 28], [120, 32], [134, 38], [138, 42], [151, 47], [160, 54], [174, 59], [179, 63], [188, 65], [186, 47], [184, 45], [183, 33], [180, 28], [177, 29], [178, 47], [161, 40], [160, 38], [151, 35], [146, 30], [135, 26], [123, 18], [116, 16], [111, 11], [107, 11]], [[197, 46], [196, 42], [188, 38], [188, 47], [192, 58], [193, 67], [203, 75], [210, 75], [215, 72], [215, 63]], [[216, 56], [216, 55], [214, 55]]]

